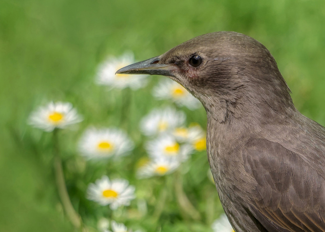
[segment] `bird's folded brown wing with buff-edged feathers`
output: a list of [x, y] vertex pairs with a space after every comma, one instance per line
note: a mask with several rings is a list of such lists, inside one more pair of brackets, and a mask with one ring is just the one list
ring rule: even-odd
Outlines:
[[269, 232], [325, 231], [325, 180], [298, 154], [253, 139], [242, 158], [256, 181], [249, 211]]

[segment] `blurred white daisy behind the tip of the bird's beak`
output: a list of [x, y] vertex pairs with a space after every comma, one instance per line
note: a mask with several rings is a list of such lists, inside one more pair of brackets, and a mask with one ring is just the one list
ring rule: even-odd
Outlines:
[[132, 53], [125, 53], [119, 58], [108, 58], [106, 61], [99, 65], [96, 83], [118, 89], [130, 87], [131, 89], [136, 90], [144, 87], [147, 84], [148, 75], [115, 75], [115, 72], [117, 70], [127, 65], [133, 64], [134, 62], [134, 56]]

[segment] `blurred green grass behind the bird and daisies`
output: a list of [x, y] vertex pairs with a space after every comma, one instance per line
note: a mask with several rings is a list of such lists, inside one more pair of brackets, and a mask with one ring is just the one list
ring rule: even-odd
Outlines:
[[[102, 217], [141, 231], [212, 231], [223, 210], [207, 174], [205, 151], [194, 153], [183, 173], [184, 192], [200, 213], [197, 220], [179, 209], [172, 187], [159, 220], [152, 220], [164, 180], [135, 176], [135, 163], [146, 156], [141, 118], [174, 104], [151, 95], [163, 77], [150, 77], [146, 87], [129, 91], [123, 116], [126, 92], [97, 85], [98, 65], [129, 51], [137, 61], [158, 56], [208, 32], [241, 32], [271, 51], [296, 108], [324, 125], [324, 23], [323, 0], [0, 1], [0, 231], [74, 230], [55, 185], [52, 135], [27, 124], [33, 110], [52, 100], [71, 102], [84, 118], [77, 128], [60, 131], [59, 142], [72, 204], [90, 231], [97, 231]], [[187, 125], [198, 123], [205, 130], [202, 107], [178, 109], [187, 114]], [[89, 125], [123, 129], [135, 149], [113, 164], [86, 161], [77, 143]], [[86, 199], [88, 184], [103, 174], [136, 187], [131, 206], [112, 213]]]

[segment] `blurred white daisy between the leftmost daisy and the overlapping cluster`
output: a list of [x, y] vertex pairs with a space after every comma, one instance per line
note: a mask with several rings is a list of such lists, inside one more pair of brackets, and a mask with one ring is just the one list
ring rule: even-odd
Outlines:
[[123, 156], [134, 148], [127, 134], [116, 128], [89, 128], [79, 140], [79, 151], [88, 159]]

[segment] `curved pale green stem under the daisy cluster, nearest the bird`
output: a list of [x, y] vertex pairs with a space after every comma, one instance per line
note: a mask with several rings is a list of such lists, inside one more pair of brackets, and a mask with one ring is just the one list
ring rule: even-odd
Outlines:
[[194, 220], [201, 220], [200, 213], [192, 205], [183, 189], [183, 177], [180, 171], [175, 173], [175, 194], [179, 207], [183, 213], [188, 214]]

